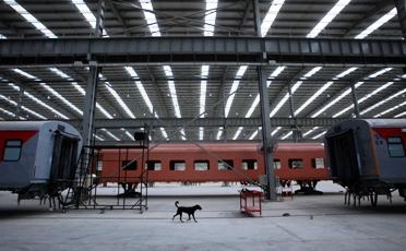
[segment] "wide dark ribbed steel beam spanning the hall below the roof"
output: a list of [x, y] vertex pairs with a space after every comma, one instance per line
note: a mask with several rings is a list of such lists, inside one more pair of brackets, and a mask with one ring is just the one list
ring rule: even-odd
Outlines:
[[[94, 62], [87, 60], [87, 53]], [[265, 60], [263, 59], [265, 52]], [[0, 67], [127, 64], [406, 65], [406, 43], [296, 37], [2, 39]]]

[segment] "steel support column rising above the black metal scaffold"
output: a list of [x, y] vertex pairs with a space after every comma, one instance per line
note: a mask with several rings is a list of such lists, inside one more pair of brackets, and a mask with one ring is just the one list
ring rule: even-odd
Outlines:
[[[96, 21], [96, 27], [94, 29], [95, 37], [99, 37], [103, 35], [104, 12], [105, 12], [105, 1], [98, 0], [97, 21]], [[87, 59], [88, 61], [93, 61], [93, 57], [91, 52], [88, 52]], [[95, 64], [97, 64], [97, 62], [95, 62]], [[95, 113], [96, 96], [97, 96], [96, 91], [97, 91], [97, 82], [98, 82], [99, 72], [100, 72], [99, 67], [97, 65], [89, 67], [87, 83], [86, 83], [86, 95], [85, 95], [84, 107], [83, 107], [83, 120], [82, 120], [83, 145], [91, 145], [93, 141], [94, 113]]]

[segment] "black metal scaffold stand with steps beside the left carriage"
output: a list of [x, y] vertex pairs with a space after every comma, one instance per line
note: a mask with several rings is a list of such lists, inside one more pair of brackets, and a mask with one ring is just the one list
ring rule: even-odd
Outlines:
[[[148, 133], [135, 132], [135, 144], [84, 146], [76, 168], [76, 179], [62, 202], [63, 210], [147, 210]], [[108, 152], [114, 151], [114, 154]], [[140, 162], [141, 170], [132, 170]], [[101, 165], [109, 165], [109, 171]], [[112, 171], [111, 171], [111, 166]], [[130, 168], [132, 167], [132, 168]], [[110, 187], [107, 187], [107, 183]], [[111, 186], [112, 184], [112, 186]], [[116, 191], [116, 192], [115, 192]]]

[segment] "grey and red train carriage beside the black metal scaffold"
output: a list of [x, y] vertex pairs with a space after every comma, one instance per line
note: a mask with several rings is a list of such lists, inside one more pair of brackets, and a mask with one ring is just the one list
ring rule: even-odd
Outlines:
[[0, 190], [23, 199], [62, 190], [74, 178], [81, 135], [60, 121], [0, 122]]

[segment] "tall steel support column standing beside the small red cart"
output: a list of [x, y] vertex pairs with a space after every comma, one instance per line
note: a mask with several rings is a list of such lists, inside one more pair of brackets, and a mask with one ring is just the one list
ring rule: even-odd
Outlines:
[[[252, 0], [255, 32], [256, 36], [261, 37], [261, 21], [260, 21], [260, 5], [258, 0]], [[263, 50], [263, 60], [266, 60], [265, 48]], [[271, 119], [270, 119], [270, 99], [267, 96], [266, 75], [262, 65], [256, 67], [259, 91], [260, 91], [260, 105], [261, 105], [261, 120], [262, 120], [262, 144], [263, 155], [266, 171], [266, 199], [276, 201], [276, 184], [274, 175], [273, 162], [273, 141], [271, 136]]]

